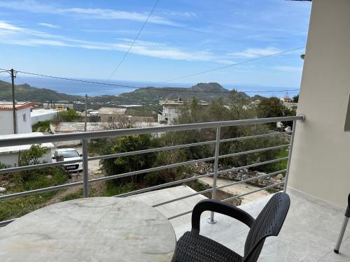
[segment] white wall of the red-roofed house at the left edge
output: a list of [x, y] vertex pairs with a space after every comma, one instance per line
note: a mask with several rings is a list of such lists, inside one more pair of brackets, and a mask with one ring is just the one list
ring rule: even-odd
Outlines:
[[[26, 121], [23, 121], [23, 115], [26, 115]], [[0, 110], [0, 135], [13, 133], [13, 111]], [[30, 108], [17, 110], [17, 133], [31, 133]]]

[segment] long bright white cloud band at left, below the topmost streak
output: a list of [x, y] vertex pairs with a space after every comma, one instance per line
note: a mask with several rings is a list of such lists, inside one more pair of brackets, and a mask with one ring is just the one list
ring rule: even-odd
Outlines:
[[[13, 24], [0, 20], [0, 43], [10, 45], [49, 45], [68, 48], [127, 51], [132, 41], [132, 39], [128, 38], [117, 38], [115, 43], [83, 41], [75, 38], [67, 38], [66, 36], [47, 34], [42, 31], [16, 27]], [[137, 41], [130, 50], [130, 53], [148, 57], [186, 61], [218, 60], [218, 57], [214, 57], [214, 55], [207, 50], [190, 52], [169, 46], [165, 43], [151, 41]]]

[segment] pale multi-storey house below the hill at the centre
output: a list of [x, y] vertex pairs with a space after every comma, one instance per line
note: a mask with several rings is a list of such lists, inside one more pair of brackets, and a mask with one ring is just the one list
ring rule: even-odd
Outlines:
[[[160, 101], [163, 110], [158, 113], [158, 123], [173, 124], [174, 119], [178, 116], [179, 107], [184, 103], [187, 103], [187, 101], [183, 99]], [[209, 103], [201, 101], [200, 105], [208, 106]]]

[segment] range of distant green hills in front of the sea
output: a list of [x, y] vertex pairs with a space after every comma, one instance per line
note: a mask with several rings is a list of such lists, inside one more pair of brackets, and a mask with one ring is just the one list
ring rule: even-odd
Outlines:
[[[213, 99], [222, 97], [227, 98], [230, 93], [229, 89], [225, 89], [217, 82], [198, 83], [193, 87], [141, 87], [132, 92], [125, 92], [119, 95], [102, 95], [89, 97], [89, 103], [92, 105], [127, 105], [127, 104], [143, 104], [155, 105], [162, 100], [174, 99], [192, 99], [197, 97], [201, 101], [212, 101]], [[244, 92], [237, 92], [244, 98], [250, 98]], [[262, 96], [253, 96], [252, 99], [261, 99]], [[8, 82], [0, 81], [0, 100], [10, 101], [11, 85]], [[15, 99], [17, 101], [52, 101], [53, 103], [66, 101], [72, 103], [74, 101], [83, 101], [83, 96], [59, 93], [51, 89], [31, 87], [28, 84], [15, 86]]]

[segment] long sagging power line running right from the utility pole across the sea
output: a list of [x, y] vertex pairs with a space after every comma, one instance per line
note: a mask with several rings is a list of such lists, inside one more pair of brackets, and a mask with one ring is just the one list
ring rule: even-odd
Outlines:
[[[6, 70], [0, 68], [0, 70]], [[117, 84], [111, 84], [106, 82], [96, 82], [96, 81], [89, 81], [89, 80], [81, 80], [76, 78], [62, 78], [55, 75], [43, 75], [39, 73], [30, 73], [25, 71], [16, 71], [17, 73], [23, 73], [26, 75], [35, 75], [35, 76], [41, 76], [43, 78], [54, 78], [54, 79], [60, 79], [60, 80], [67, 80], [67, 81], [73, 81], [73, 82], [85, 82], [87, 84], [94, 84], [94, 85], [107, 85], [111, 87], [125, 87], [125, 88], [132, 88], [132, 89], [152, 89], [152, 90], [159, 90], [159, 91], [166, 91], [166, 92], [190, 92], [190, 93], [223, 93], [223, 94], [229, 94], [230, 91], [223, 91], [223, 92], [214, 92], [214, 91], [195, 91], [195, 90], [183, 90], [181, 87], [168, 87], [168, 88], [158, 88], [158, 87], [135, 87], [132, 85], [117, 85]], [[239, 91], [239, 92], [245, 92], [245, 93], [271, 93], [271, 92], [293, 92], [298, 91], [299, 89], [283, 89], [283, 90], [265, 90], [265, 91]]]

